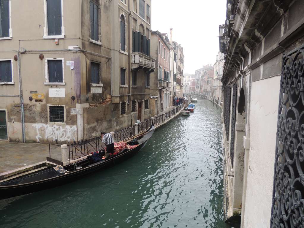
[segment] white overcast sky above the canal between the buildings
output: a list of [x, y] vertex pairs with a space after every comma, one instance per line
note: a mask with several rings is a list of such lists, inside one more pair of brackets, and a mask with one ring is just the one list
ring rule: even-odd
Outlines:
[[184, 73], [214, 64], [219, 51], [219, 25], [225, 23], [226, 0], [152, 0], [152, 30], [168, 33], [184, 48]]

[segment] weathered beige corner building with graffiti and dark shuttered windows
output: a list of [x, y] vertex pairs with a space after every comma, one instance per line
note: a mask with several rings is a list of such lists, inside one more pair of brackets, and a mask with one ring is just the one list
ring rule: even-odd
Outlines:
[[151, 0], [1, 2], [0, 140], [72, 143], [154, 116]]

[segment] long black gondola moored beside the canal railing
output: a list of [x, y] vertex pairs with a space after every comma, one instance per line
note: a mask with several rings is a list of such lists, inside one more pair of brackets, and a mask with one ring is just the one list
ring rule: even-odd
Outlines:
[[145, 146], [147, 141], [154, 133], [154, 125], [150, 127], [145, 133], [135, 137], [129, 145], [137, 145], [133, 149], [124, 149], [116, 156], [109, 159], [92, 163], [91, 156], [85, 156], [83, 160], [76, 163], [71, 163], [66, 166], [55, 166], [46, 168], [43, 171], [34, 171], [30, 174], [18, 176], [16, 178], [9, 178], [9, 180], [0, 181], [0, 199], [6, 199], [18, 195], [24, 195], [32, 192], [38, 192], [48, 188], [54, 188], [59, 185], [78, 180], [88, 174], [94, 173], [100, 169], [109, 168], [118, 164], [129, 157], [136, 154], [142, 147]]

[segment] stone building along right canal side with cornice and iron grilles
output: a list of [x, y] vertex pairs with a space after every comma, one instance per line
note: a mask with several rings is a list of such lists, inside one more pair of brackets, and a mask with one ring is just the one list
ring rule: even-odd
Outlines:
[[241, 227], [303, 227], [304, 2], [228, 0], [224, 214]]

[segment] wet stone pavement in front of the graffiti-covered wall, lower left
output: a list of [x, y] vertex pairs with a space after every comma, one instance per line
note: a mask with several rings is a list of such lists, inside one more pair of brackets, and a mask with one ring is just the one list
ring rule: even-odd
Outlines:
[[47, 160], [49, 144], [0, 141], [0, 173]]

